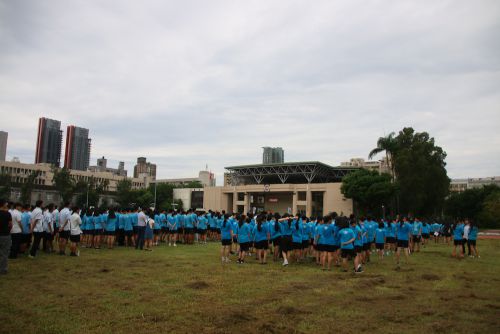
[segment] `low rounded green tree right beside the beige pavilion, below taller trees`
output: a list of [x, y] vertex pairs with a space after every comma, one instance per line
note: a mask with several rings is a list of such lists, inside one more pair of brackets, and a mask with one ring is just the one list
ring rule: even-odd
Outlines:
[[382, 206], [390, 208], [396, 192], [389, 174], [359, 169], [342, 179], [341, 192], [355, 201], [358, 214], [382, 214]]

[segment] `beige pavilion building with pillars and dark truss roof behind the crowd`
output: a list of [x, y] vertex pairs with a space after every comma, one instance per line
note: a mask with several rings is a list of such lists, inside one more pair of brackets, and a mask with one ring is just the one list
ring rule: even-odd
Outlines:
[[341, 179], [357, 168], [298, 162], [226, 167], [225, 185], [205, 187], [203, 206], [226, 212], [349, 215], [353, 202], [345, 198]]

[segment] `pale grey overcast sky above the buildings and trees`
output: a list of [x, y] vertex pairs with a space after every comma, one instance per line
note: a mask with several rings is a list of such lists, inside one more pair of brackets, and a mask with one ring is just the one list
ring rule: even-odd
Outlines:
[[0, 130], [32, 163], [37, 120], [90, 129], [91, 164], [367, 158], [427, 131], [450, 177], [500, 175], [500, 1], [0, 0]]

